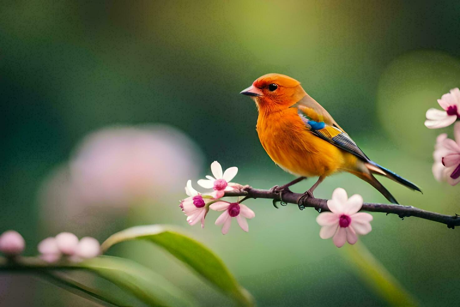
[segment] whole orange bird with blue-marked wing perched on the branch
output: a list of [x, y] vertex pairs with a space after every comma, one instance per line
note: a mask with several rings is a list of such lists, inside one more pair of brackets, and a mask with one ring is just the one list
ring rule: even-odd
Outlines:
[[397, 203], [396, 199], [374, 174], [420, 191], [417, 185], [371, 161], [299, 81], [287, 75], [263, 75], [241, 94], [251, 97], [257, 105], [256, 130], [267, 154], [283, 170], [300, 176], [273, 187], [273, 191], [318, 176], [318, 181], [305, 192], [313, 197], [324, 178], [338, 172], [349, 172], [368, 182], [391, 203]]

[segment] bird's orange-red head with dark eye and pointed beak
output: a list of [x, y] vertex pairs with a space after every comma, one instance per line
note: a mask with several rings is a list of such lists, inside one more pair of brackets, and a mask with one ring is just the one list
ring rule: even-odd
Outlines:
[[241, 94], [251, 97], [259, 111], [287, 109], [306, 95], [299, 81], [281, 74], [263, 75]]

